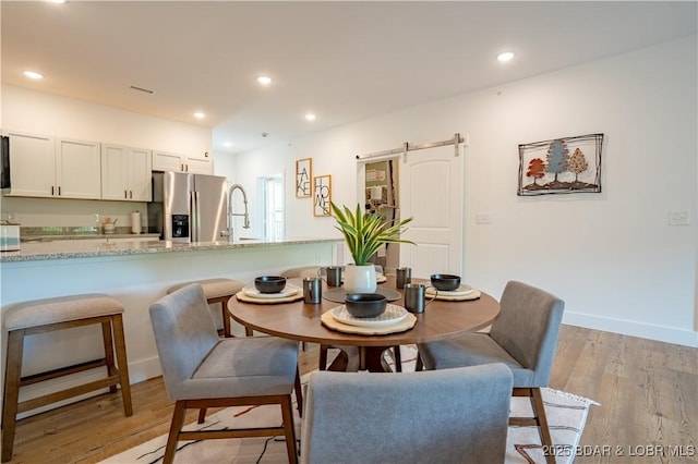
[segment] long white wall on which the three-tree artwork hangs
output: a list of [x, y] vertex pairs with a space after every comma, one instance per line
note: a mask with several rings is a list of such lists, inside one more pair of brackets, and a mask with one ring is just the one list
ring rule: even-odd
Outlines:
[[[696, 36], [456, 96], [234, 159], [217, 173], [253, 185], [285, 172], [290, 235], [335, 236], [293, 192], [294, 160], [357, 202], [354, 155], [468, 134], [465, 280], [501, 295], [516, 279], [565, 300], [565, 322], [698, 346]], [[518, 197], [518, 145], [603, 133], [600, 194]], [[224, 162], [222, 159], [226, 158]], [[229, 170], [229, 171], [228, 171]], [[251, 203], [254, 198], [251, 199]], [[689, 225], [671, 227], [670, 211]], [[490, 224], [476, 224], [476, 213]]]

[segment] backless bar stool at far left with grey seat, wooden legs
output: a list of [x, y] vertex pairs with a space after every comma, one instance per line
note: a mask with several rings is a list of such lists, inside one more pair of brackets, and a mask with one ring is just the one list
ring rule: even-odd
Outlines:
[[[116, 393], [117, 386], [120, 386], [123, 412], [127, 416], [133, 414], [122, 313], [123, 306], [117, 300], [101, 293], [35, 300], [12, 304], [7, 307], [4, 310], [4, 323], [8, 330], [8, 354], [2, 410], [2, 462], [12, 459], [16, 415], [19, 413], [107, 387], [111, 393]], [[24, 339], [26, 335], [94, 323], [101, 325], [105, 357], [22, 377]], [[115, 355], [117, 364], [115, 364]], [[22, 387], [101, 366], [107, 367], [107, 376], [103, 379], [38, 398], [19, 401]]]

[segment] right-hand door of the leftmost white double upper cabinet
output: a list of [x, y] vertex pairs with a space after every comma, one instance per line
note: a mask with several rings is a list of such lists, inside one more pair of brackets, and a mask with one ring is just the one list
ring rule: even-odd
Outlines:
[[57, 141], [56, 171], [61, 198], [101, 197], [101, 162], [95, 142]]

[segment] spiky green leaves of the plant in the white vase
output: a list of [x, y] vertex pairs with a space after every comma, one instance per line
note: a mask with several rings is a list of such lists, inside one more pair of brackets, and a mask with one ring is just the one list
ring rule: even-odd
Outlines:
[[361, 206], [357, 205], [356, 212], [346, 206], [341, 208], [330, 204], [333, 215], [337, 221], [335, 227], [345, 236], [345, 242], [351, 252], [351, 257], [357, 266], [369, 262], [381, 245], [385, 243], [409, 243], [409, 240], [401, 240], [400, 234], [407, 229], [405, 225], [412, 220], [407, 218], [395, 225], [388, 225], [380, 215], [361, 212]]

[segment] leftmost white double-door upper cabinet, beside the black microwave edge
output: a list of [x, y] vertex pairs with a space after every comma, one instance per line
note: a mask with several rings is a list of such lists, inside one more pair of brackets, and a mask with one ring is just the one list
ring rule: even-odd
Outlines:
[[8, 132], [10, 195], [55, 198], [101, 197], [99, 144]]

